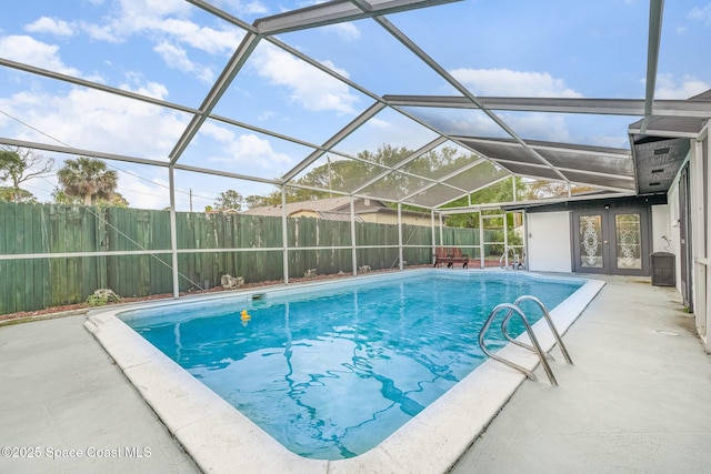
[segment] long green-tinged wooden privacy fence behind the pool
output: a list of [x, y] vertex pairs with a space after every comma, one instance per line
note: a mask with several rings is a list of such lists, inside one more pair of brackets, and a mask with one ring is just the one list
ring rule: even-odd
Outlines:
[[[228, 213], [176, 214], [179, 290], [282, 281], [281, 218]], [[397, 268], [398, 225], [287, 220], [289, 278], [352, 273], [359, 266]], [[477, 256], [478, 229], [442, 229], [444, 245]], [[403, 261], [432, 262], [432, 229], [402, 225]], [[0, 203], [0, 314], [86, 301], [100, 288], [121, 296], [172, 293], [170, 212], [138, 209]], [[471, 250], [471, 251], [470, 251]]]

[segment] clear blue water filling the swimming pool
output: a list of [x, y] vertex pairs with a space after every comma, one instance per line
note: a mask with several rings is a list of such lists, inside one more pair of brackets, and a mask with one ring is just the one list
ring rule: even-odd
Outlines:
[[[290, 451], [339, 460], [378, 445], [481, 364], [479, 330], [497, 304], [533, 294], [550, 310], [583, 282], [432, 271], [121, 319]], [[503, 344], [494, 331], [487, 341]]]

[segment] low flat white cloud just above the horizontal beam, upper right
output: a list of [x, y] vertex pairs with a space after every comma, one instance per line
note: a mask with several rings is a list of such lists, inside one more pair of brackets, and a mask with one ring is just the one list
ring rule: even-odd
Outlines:
[[507, 97], [582, 97], [565, 87], [562, 79], [548, 72], [512, 71], [509, 69], [454, 69], [450, 73], [475, 95]]

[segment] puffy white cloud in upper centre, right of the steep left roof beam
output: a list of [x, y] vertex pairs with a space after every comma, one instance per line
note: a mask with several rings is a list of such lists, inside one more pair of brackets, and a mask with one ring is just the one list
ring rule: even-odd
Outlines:
[[[353, 104], [358, 102], [358, 97], [351, 94], [348, 85], [284, 51], [276, 48], [258, 50], [253, 63], [259, 75], [272, 84], [289, 89], [290, 99], [306, 110], [354, 112]], [[326, 61], [324, 64], [348, 77], [346, 71], [338, 70], [332, 63]]]

